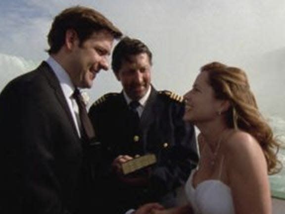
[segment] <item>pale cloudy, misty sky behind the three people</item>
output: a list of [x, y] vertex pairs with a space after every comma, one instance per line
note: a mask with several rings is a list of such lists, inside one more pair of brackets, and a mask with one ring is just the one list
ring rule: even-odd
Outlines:
[[[183, 95], [202, 65], [221, 61], [247, 72], [261, 111], [285, 127], [285, 0], [1, 0], [0, 89], [47, 58], [53, 17], [77, 4], [148, 45], [157, 90]], [[120, 90], [109, 70], [88, 93]]]

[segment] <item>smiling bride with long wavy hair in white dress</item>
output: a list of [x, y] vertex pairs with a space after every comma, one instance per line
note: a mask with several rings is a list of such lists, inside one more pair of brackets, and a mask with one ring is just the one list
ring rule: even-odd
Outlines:
[[189, 204], [151, 214], [272, 214], [268, 173], [280, 170], [279, 144], [246, 74], [207, 64], [185, 100], [184, 119], [200, 130], [199, 164], [185, 185]]

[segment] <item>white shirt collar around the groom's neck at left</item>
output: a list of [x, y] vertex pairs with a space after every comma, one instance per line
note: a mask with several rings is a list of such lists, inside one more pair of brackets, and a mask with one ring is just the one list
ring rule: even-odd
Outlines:
[[71, 79], [68, 73], [52, 56], [49, 56], [46, 62], [52, 68], [56, 77], [58, 78], [64, 96], [71, 98], [75, 90], [75, 87], [73, 83], [71, 82]]

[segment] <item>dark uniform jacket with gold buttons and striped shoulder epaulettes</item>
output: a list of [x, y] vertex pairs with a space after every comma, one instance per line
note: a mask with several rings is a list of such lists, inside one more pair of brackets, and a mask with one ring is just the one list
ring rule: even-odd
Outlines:
[[[102, 147], [101, 168], [97, 170], [102, 179], [98, 179], [100, 181], [95, 191], [102, 188], [97, 198], [103, 201], [101, 204], [104, 201], [110, 204], [108, 211], [103, 208], [106, 213], [122, 214], [129, 208], [154, 201], [166, 207], [175, 205], [174, 190], [184, 184], [195, 167], [197, 150], [194, 128], [182, 120], [184, 102], [169, 94], [152, 87], [142, 112], [139, 132], [123, 93], [106, 94], [90, 108], [89, 115]], [[136, 135], [139, 141], [134, 138]], [[147, 185], [132, 187], [117, 179], [111, 162], [118, 155], [147, 153], [157, 157]]]

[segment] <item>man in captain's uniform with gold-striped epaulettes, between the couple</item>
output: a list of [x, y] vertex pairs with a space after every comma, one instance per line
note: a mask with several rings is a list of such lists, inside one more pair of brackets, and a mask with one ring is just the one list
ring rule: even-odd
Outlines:
[[[123, 91], [104, 95], [89, 110], [104, 162], [97, 167], [102, 188], [98, 205], [112, 205], [106, 213], [120, 214], [149, 202], [175, 206], [175, 189], [196, 166], [195, 133], [183, 121], [184, 100], [170, 91], [155, 90], [151, 64], [145, 44], [122, 39], [113, 51], [112, 69]], [[122, 163], [146, 154], [154, 154], [156, 163], [123, 173]]]

